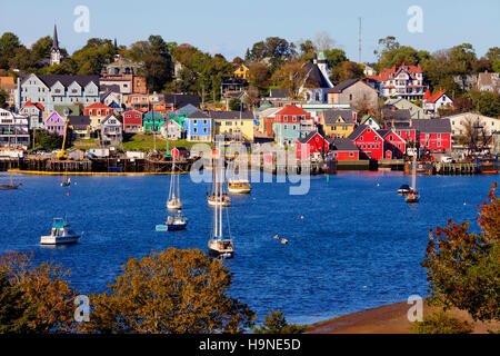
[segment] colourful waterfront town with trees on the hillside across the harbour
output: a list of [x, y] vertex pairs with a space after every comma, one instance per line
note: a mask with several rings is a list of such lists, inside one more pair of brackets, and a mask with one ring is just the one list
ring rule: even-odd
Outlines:
[[[14, 41], [12, 37], [4, 33], [3, 40]], [[172, 46], [161, 38], [151, 40]], [[390, 37], [380, 40], [389, 42], [399, 46]], [[66, 147], [73, 151], [70, 158], [76, 159], [96, 154], [106, 158], [109, 148], [111, 154], [117, 147], [123, 152], [134, 150], [130, 142], [139, 137], [150, 144], [140, 147], [143, 154], [139, 157], [150, 157], [167, 149], [164, 140], [172, 148], [213, 142], [218, 135], [231, 142], [272, 142], [296, 151], [298, 160], [328, 156], [339, 167], [350, 162], [346, 167], [361, 169], [370, 161], [402, 160], [413, 147], [420, 148], [419, 157], [427, 154], [437, 162], [477, 157], [496, 160], [500, 152], [500, 73], [493, 70], [498, 69], [498, 48], [477, 59], [470, 44], [454, 47], [449, 60], [468, 56], [469, 71], [450, 70], [446, 80], [436, 81], [429, 78], [437, 76], [430, 72], [436, 66], [431, 61], [442, 59], [429, 59], [429, 55], [398, 53], [388, 47], [378, 63], [357, 63], [341, 50], [319, 50], [309, 40], [301, 43], [300, 53], [294, 55], [301, 56], [294, 59], [286, 40], [268, 38], [256, 43], [244, 59], [227, 62], [213, 57], [221, 69], [208, 63], [214, 68], [206, 85], [197, 78], [201, 73], [193, 73], [190, 58], [207, 55], [183, 43], [170, 48], [171, 55], [163, 53], [171, 81], [162, 89], [150, 77], [146, 67], [150, 63], [133, 60], [133, 46], [128, 50], [116, 40], [89, 40], [86, 48], [106, 50], [106, 59], [86, 75], [69, 73], [74, 60], [64, 58], [57, 26], [43, 46], [47, 58], [31, 63], [34, 67], [1, 69], [3, 157], [23, 156], [16, 152], [19, 149], [46, 154], [43, 139], [37, 142], [40, 132], [64, 137]], [[286, 47], [282, 53], [272, 53], [281, 47]], [[262, 48], [269, 55], [261, 53]], [[4, 57], [13, 55], [8, 50], [4, 44]], [[284, 56], [288, 62], [281, 59]]]

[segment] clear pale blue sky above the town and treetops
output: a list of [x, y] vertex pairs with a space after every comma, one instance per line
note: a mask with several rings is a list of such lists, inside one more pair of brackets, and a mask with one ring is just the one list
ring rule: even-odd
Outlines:
[[[90, 11], [90, 31], [73, 30], [77, 6]], [[407, 10], [423, 11], [423, 32], [410, 33]], [[71, 53], [89, 38], [117, 38], [119, 44], [161, 34], [166, 41], [188, 42], [232, 60], [267, 37], [289, 41], [313, 39], [326, 31], [348, 57], [358, 60], [358, 18], [362, 18], [362, 61], [373, 61], [377, 41], [394, 36], [417, 49], [472, 43], [483, 56], [500, 47], [499, 0], [46, 0], [8, 1], [0, 6], [0, 32], [17, 33], [29, 46], [52, 34]]]

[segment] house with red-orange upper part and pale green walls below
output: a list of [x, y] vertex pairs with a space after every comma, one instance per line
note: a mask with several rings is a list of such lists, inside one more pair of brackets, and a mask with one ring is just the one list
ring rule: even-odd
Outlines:
[[274, 113], [272, 131], [278, 145], [282, 147], [294, 146], [299, 138], [303, 138], [311, 132], [311, 126], [313, 126], [313, 121], [310, 113], [294, 105], [290, 105]]

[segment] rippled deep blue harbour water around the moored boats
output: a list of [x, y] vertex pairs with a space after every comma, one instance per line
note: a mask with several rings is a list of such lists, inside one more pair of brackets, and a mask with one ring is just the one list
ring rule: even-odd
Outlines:
[[[128, 257], [169, 246], [207, 250], [212, 210], [208, 185], [181, 177], [188, 229], [156, 233], [166, 219], [168, 176], [14, 176], [22, 187], [0, 191], [0, 253], [34, 253], [71, 269], [82, 293], [102, 291]], [[1, 181], [9, 177], [2, 172]], [[274, 178], [276, 180], [276, 178]], [[283, 310], [287, 319], [314, 323], [334, 316], [426, 296], [420, 267], [429, 228], [447, 219], [472, 220], [498, 176], [418, 177], [422, 195], [407, 205], [396, 191], [410, 177], [396, 172], [344, 172], [313, 177], [309, 194], [290, 196], [290, 184], [252, 184], [250, 196], [233, 196], [229, 208], [236, 257], [231, 296], [259, 315]], [[67, 192], [70, 196], [67, 196]], [[80, 244], [41, 247], [53, 217], [68, 216]], [[302, 217], [303, 219], [298, 219]], [[226, 219], [226, 216], [224, 216]], [[476, 225], [472, 225], [476, 228]], [[288, 245], [273, 239], [286, 237]]]

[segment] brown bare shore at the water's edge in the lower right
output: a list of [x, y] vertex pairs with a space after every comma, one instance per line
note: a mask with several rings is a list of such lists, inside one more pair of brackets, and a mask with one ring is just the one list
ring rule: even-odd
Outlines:
[[[408, 310], [412, 305], [397, 303], [363, 312], [342, 315], [329, 320], [311, 324], [304, 334], [410, 334], [411, 323]], [[423, 315], [437, 309], [423, 303]], [[488, 330], [500, 330], [500, 322], [473, 322], [467, 312], [452, 308], [453, 317], [473, 325], [472, 334], [488, 334]]]

